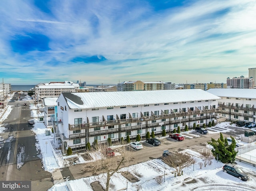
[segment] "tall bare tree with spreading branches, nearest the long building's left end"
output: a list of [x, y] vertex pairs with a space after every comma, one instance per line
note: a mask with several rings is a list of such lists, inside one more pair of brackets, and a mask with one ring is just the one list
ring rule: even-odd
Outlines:
[[121, 144], [118, 144], [114, 150], [106, 144], [98, 144], [98, 150], [90, 152], [92, 162], [89, 163], [89, 168], [86, 168], [86, 170], [91, 171], [93, 175], [106, 173], [106, 191], [108, 191], [110, 178], [114, 173], [119, 173], [119, 169], [130, 161], [131, 154], [132, 152], [126, 150], [126, 147], [121, 146]]

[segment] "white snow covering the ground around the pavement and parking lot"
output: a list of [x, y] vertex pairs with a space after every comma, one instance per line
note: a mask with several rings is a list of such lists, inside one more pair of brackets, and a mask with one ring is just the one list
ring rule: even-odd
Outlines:
[[[0, 121], [3, 121], [8, 117], [12, 106], [6, 106], [6, 111], [0, 113], [2, 118]], [[32, 131], [36, 134], [36, 139], [38, 143], [36, 147], [38, 149], [38, 153], [40, 153], [40, 158], [42, 158], [43, 168], [46, 171], [53, 173], [54, 171], [58, 171], [64, 167], [67, 163], [68, 158], [76, 157], [78, 158], [73, 164], [76, 163], [86, 163], [89, 161], [85, 161], [80, 155], [72, 155], [63, 157], [60, 150], [57, 150], [57, 143], [53, 141], [53, 135], [46, 136], [45, 130], [46, 127], [43, 122], [38, 120], [38, 114], [36, 113], [36, 106], [31, 105], [30, 109], [31, 116], [34, 117], [35, 124]], [[41, 116], [41, 115], [39, 115]], [[230, 126], [235, 126], [234, 124], [230, 124], [229, 122], [222, 122], [221, 124], [217, 124], [212, 128], [207, 128], [209, 134], [211, 133], [219, 133], [219, 132], [228, 132], [234, 131], [234, 128], [229, 128]], [[49, 128], [51, 130], [51, 128]], [[0, 133], [4, 132], [5, 129], [0, 126]], [[196, 134], [192, 134], [191, 131], [182, 133], [186, 138], [193, 139]], [[1, 136], [0, 136], [1, 139]], [[239, 136], [236, 139], [240, 139]], [[246, 144], [246, 143], [245, 143]], [[40, 152], [39, 152], [40, 151]], [[239, 191], [252, 191], [255, 190], [256, 187], [256, 167], [251, 165], [247, 165], [245, 163], [238, 162], [238, 166], [249, 173], [251, 178], [249, 181], [241, 181], [240, 179], [224, 173], [222, 171], [222, 166], [224, 165], [221, 162], [217, 162], [215, 159], [212, 159], [211, 165], [206, 165], [206, 167], [202, 167], [200, 169], [200, 165], [198, 163], [202, 162], [200, 158], [199, 152], [194, 152], [190, 149], [184, 150], [194, 157], [196, 163], [191, 165], [188, 168], [185, 168], [182, 176], [174, 176], [174, 168], [169, 167], [160, 159], [152, 159], [143, 163], [139, 163], [136, 165], [132, 165], [130, 167], [125, 167], [120, 169], [120, 172], [129, 172], [132, 176], [138, 179], [137, 182], [132, 183], [128, 179], [126, 179], [121, 173], [115, 173], [111, 177], [110, 181], [110, 190], [129, 190], [129, 191], [169, 191], [169, 190], [177, 190], [177, 191], [186, 191], [186, 190], [195, 190], [195, 191], [204, 191], [204, 190], [239, 190]], [[256, 150], [251, 151], [250, 155], [256, 156]], [[21, 164], [22, 165], [22, 164]], [[162, 183], [158, 184], [155, 180], [157, 176], [162, 176]], [[87, 178], [81, 178], [78, 180], [72, 181], [64, 181], [62, 183], [55, 184], [48, 191], [68, 191], [68, 190], [76, 190], [76, 191], [93, 191], [91, 183], [95, 183], [98, 181], [103, 188], [106, 187], [106, 174], [100, 174], [97, 176], [91, 176]], [[139, 189], [140, 188], [140, 189]]]

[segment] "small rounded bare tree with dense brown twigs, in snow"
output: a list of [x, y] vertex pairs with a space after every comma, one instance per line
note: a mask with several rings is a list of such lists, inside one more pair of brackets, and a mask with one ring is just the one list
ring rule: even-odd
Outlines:
[[192, 156], [184, 154], [182, 152], [173, 153], [163, 158], [163, 161], [168, 164], [170, 167], [176, 169], [177, 175], [181, 175], [182, 169], [189, 167], [195, 160]]

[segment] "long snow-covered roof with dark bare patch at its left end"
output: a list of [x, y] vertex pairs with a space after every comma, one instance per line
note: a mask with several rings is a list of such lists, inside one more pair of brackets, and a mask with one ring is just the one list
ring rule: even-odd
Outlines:
[[62, 95], [71, 109], [220, 99], [201, 89], [62, 93]]

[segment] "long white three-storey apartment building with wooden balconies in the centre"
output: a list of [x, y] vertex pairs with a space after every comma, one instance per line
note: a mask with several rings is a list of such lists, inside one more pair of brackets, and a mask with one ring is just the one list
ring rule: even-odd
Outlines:
[[145, 138], [147, 132], [172, 132], [180, 126], [208, 124], [217, 116], [220, 97], [200, 89], [62, 93], [57, 99], [54, 134], [62, 152], [84, 148], [94, 140], [106, 143]]

